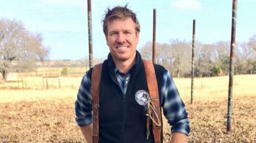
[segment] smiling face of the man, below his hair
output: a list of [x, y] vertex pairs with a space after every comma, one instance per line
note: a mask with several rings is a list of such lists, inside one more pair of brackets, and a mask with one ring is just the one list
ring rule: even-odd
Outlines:
[[139, 32], [131, 18], [115, 19], [107, 23], [106, 42], [114, 62], [130, 61], [136, 56]]

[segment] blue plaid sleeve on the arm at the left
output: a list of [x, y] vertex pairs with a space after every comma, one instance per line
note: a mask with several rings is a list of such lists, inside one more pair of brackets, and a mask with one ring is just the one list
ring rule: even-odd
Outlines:
[[75, 101], [75, 121], [78, 126], [86, 126], [92, 123], [92, 95], [91, 81], [84, 75]]

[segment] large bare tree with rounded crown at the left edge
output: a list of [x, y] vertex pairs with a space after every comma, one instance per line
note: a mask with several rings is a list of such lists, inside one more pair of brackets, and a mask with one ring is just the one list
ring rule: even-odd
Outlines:
[[36, 60], [43, 61], [49, 49], [40, 34], [32, 34], [15, 20], [0, 19], [0, 73], [6, 80], [11, 71], [26, 71]]

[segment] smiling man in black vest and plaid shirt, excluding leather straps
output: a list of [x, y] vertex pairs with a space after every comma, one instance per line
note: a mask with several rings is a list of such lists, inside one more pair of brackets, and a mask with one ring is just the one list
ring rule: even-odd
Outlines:
[[[100, 79], [99, 142], [154, 142], [152, 121], [147, 137], [148, 87], [143, 62], [136, 51], [139, 21], [127, 5], [108, 8], [103, 31], [110, 54], [102, 65]], [[185, 142], [190, 132], [185, 105], [170, 73], [160, 65], [154, 68], [160, 106], [172, 126], [171, 140]], [[83, 77], [75, 102], [75, 119], [88, 143], [93, 142], [91, 76], [92, 69]]]

